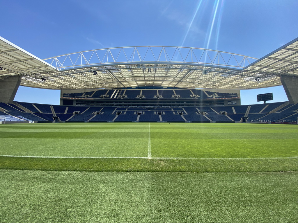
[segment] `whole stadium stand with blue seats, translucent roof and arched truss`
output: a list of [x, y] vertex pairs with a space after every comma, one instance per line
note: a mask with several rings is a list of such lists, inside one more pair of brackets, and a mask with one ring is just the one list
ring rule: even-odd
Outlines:
[[[139, 55], [136, 61], [127, 59], [134, 58], [134, 52], [141, 48], [154, 48], [154, 52], [167, 56], [153, 55], [146, 61], [142, 59], [145, 55]], [[170, 51], [181, 48], [186, 52], [181, 53], [181, 61], [174, 61], [174, 55], [169, 57]], [[117, 60], [113, 62], [89, 58], [72, 64], [68, 59], [75, 56], [87, 58], [87, 52], [111, 51], [84, 51], [41, 60], [1, 37], [0, 116], [7, 117], [7, 123], [297, 121], [298, 78], [294, 66], [298, 38], [261, 59], [187, 47], [113, 48], [117, 50], [125, 56], [114, 56]], [[134, 52], [129, 54], [131, 50]], [[12, 59], [16, 52], [19, 58]], [[212, 61], [193, 59], [200, 58], [202, 52], [217, 56]], [[240, 59], [226, 59], [236, 56]], [[8, 58], [13, 60], [9, 65], [5, 62]], [[57, 61], [56, 67], [53, 61]], [[19, 85], [60, 89], [60, 105], [14, 101]], [[277, 85], [283, 85], [289, 101], [241, 105], [240, 89]]]

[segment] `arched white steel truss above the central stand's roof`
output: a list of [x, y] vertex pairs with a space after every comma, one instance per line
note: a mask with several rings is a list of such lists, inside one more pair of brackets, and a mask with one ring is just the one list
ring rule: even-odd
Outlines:
[[183, 62], [241, 69], [257, 58], [203, 48], [130, 46], [65, 54], [45, 59], [59, 70], [132, 62]]

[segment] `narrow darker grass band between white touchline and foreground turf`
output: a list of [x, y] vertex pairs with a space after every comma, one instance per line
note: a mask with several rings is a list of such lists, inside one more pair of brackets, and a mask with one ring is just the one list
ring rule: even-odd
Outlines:
[[0, 169], [116, 172], [279, 172], [297, 171], [298, 158], [160, 159], [31, 158], [0, 156]]

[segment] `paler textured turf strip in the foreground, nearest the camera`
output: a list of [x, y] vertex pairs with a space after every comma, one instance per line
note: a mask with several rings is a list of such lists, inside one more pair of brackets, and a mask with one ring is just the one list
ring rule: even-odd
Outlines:
[[0, 170], [0, 222], [298, 220], [297, 172]]

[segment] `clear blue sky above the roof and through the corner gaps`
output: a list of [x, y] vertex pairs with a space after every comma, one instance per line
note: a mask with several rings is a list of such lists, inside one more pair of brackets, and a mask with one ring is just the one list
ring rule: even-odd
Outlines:
[[[10, 0], [1, 36], [45, 59], [77, 51], [172, 45], [260, 58], [298, 37], [297, 0]], [[241, 90], [242, 104], [283, 87]], [[59, 104], [60, 91], [20, 87], [15, 100]], [[268, 101], [269, 102], [269, 101]]]

